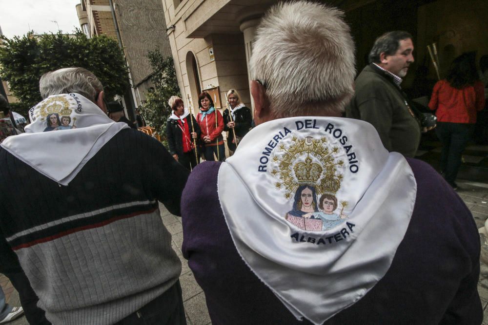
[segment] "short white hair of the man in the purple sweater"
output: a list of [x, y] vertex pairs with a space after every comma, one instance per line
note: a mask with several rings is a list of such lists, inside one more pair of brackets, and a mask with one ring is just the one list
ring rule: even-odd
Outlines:
[[338, 115], [354, 89], [354, 42], [344, 13], [310, 1], [281, 2], [256, 31], [251, 79], [275, 117]]

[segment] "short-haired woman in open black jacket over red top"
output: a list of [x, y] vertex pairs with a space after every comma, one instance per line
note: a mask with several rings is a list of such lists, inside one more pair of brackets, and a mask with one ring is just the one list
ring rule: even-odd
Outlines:
[[168, 151], [184, 167], [192, 170], [197, 165], [194, 144], [200, 138], [200, 127], [193, 115], [184, 108], [183, 99], [171, 96], [168, 104], [173, 110], [166, 122]]

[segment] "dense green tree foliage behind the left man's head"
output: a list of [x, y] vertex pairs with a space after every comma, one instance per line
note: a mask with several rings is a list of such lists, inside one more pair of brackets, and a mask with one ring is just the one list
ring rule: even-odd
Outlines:
[[0, 48], [0, 75], [25, 105], [41, 101], [39, 79], [49, 71], [82, 67], [102, 82], [106, 97], [123, 94], [128, 87], [127, 66], [117, 41], [104, 35], [87, 38], [80, 30], [74, 37], [31, 33], [4, 38]]

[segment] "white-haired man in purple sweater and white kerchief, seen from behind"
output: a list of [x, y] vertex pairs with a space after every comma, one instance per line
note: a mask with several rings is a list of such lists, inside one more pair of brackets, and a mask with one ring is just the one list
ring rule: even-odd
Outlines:
[[257, 126], [188, 179], [182, 250], [212, 324], [480, 324], [462, 200], [369, 123], [337, 117], [355, 73], [342, 17], [269, 9], [250, 59]]

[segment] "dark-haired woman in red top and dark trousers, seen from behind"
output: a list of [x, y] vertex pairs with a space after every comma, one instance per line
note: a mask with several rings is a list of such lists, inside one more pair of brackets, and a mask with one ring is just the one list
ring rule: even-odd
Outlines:
[[478, 79], [471, 55], [454, 59], [446, 79], [435, 84], [428, 106], [437, 110], [436, 134], [442, 142], [441, 173], [456, 189], [454, 181], [461, 154], [473, 134], [476, 112], [485, 106], [484, 85]]

